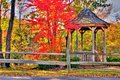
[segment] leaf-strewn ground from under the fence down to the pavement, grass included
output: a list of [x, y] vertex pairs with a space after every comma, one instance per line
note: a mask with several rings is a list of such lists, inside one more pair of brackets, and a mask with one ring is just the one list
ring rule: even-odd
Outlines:
[[72, 68], [68, 73], [66, 68], [40, 70], [33, 65], [17, 65], [12, 68], [0, 68], [0, 76], [81, 76], [81, 77], [119, 77], [120, 66], [80, 66]]

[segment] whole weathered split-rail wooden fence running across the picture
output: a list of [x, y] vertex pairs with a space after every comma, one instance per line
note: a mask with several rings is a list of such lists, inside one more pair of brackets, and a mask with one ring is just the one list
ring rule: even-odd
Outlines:
[[[26, 54], [26, 55], [32, 55], [32, 54], [37, 54], [37, 55], [57, 55], [57, 56], [66, 56], [66, 53], [36, 53], [36, 52], [0, 52], [0, 54]], [[76, 52], [76, 53], [71, 53], [71, 55], [81, 55], [81, 54], [86, 54], [86, 52], [81, 53], [81, 52]], [[101, 55], [101, 54], [87, 54], [87, 55]], [[103, 55], [103, 54], [102, 54]], [[106, 56], [111, 56], [112, 54], [106, 55]], [[115, 54], [114, 54], [115, 55]], [[116, 54], [119, 55], [120, 54]], [[68, 58], [66, 56], [66, 58]], [[26, 60], [26, 59], [0, 59], [0, 63], [28, 63], [28, 64], [44, 64], [44, 65], [67, 65], [69, 67], [70, 64], [79, 64], [79, 65], [117, 65], [120, 66], [120, 62], [92, 62], [92, 61], [44, 61], [44, 60]], [[69, 64], [69, 65], [68, 65]]]

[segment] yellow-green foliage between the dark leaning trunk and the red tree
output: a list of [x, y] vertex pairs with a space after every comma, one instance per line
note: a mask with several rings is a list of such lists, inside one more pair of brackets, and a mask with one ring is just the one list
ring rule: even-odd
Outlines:
[[34, 51], [36, 45], [32, 42], [35, 34], [32, 34], [29, 28], [32, 26], [27, 25], [27, 22], [21, 20], [21, 27], [19, 26], [19, 19], [14, 20], [14, 29], [12, 34], [11, 51], [15, 52], [29, 52]]

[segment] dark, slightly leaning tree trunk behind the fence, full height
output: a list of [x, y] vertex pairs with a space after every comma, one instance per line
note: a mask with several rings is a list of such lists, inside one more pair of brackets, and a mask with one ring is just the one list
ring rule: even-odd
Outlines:
[[[10, 52], [10, 42], [11, 42], [11, 34], [12, 34], [12, 29], [13, 29], [13, 22], [14, 22], [14, 16], [15, 16], [15, 1], [11, 1], [11, 14], [10, 14], [10, 20], [9, 20], [9, 27], [7, 31], [7, 37], [6, 37], [6, 52]], [[5, 56], [6, 59], [10, 59], [10, 54], [6, 54]], [[5, 64], [6, 68], [10, 67], [10, 63]]]

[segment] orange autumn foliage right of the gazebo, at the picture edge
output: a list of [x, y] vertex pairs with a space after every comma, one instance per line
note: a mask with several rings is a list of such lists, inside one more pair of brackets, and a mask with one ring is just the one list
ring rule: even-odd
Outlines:
[[111, 24], [107, 34], [108, 52], [120, 52], [120, 22]]

